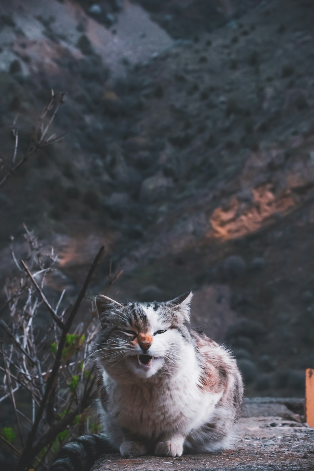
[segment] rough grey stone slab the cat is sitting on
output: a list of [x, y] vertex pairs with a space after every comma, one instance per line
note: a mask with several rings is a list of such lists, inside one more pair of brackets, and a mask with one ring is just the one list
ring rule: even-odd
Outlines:
[[[274, 403], [275, 404], [275, 403]], [[310, 471], [314, 469], [314, 429], [280, 417], [248, 417], [239, 423], [233, 450], [180, 458], [106, 455], [92, 471]]]

